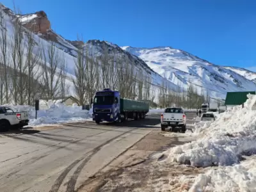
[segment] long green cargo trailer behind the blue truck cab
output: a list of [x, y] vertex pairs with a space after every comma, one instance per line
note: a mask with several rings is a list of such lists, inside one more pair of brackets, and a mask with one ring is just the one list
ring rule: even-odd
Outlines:
[[120, 99], [120, 111], [148, 113], [149, 104], [138, 100]]

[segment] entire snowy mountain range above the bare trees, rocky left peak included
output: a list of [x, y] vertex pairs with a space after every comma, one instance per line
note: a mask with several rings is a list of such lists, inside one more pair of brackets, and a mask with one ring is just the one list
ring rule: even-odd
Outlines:
[[15, 15], [12, 10], [0, 4], [6, 22], [6, 29], [10, 40], [13, 36], [12, 20], [19, 18], [24, 29], [33, 31], [33, 38], [38, 49], [47, 49], [49, 43], [54, 43], [61, 58], [67, 62], [69, 93], [74, 95], [71, 79], [74, 78], [75, 60], [77, 48], [89, 47], [94, 54], [102, 54], [103, 47], [109, 54], [119, 54], [129, 59], [128, 63], [136, 63], [136, 67], [142, 68], [152, 77], [152, 84], [156, 88], [163, 82], [173, 90], [178, 87], [188, 88], [188, 84], [194, 84], [198, 93], [201, 91], [211, 97], [225, 98], [227, 92], [246, 91], [256, 89], [256, 73], [237, 67], [221, 67], [209, 61], [189, 54], [188, 52], [173, 49], [172, 47], [134, 48], [119, 47], [106, 41], [89, 40], [84, 44], [81, 41], [70, 41], [58, 35], [51, 29], [51, 22], [45, 12]]

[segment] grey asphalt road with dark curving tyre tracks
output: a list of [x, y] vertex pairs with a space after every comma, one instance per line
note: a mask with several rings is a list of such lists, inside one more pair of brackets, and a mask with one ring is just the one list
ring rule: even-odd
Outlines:
[[159, 121], [155, 113], [123, 124], [79, 122], [0, 134], [0, 191], [76, 191], [134, 143], [160, 131]]

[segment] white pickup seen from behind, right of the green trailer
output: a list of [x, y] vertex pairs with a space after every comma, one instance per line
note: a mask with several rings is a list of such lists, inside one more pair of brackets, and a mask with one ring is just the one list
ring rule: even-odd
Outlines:
[[161, 115], [161, 130], [165, 128], [180, 127], [182, 132], [186, 132], [186, 114], [182, 108], [166, 108]]

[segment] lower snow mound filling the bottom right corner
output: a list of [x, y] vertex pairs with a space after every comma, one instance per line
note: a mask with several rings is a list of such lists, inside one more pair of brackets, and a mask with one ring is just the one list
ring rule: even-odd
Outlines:
[[[211, 191], [256, 191], [256, 156], [248, 157], [246, 161], [234, 166], [219, 166], [207, 168], [207, 172], [196, 177], [182, 175], [169, 180], [169, 184], [186, 186], [188, 192]], [[181, 191], [181, 190], [180, 190]]]

